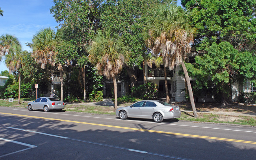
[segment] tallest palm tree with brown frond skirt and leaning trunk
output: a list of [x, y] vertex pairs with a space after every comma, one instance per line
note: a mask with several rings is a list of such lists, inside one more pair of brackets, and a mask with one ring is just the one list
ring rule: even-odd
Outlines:
[[188, 23], [189, 18], [189, 11], [177, 5], [159, 6], [147, 19], [145, 42], [153, 55], [158, 55], [161, 51], [165, 67], [173, 70], [175, 65], [182, 65], [193, 114], [197, 117], [192, 87], [184, 63], [187, 53], [191, 51], [191, 44], [196, 33], [195, 28]]

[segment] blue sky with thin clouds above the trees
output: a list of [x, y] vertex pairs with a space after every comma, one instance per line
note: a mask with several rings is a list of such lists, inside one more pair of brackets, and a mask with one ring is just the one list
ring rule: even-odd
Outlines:
[[[55, 29], [55, 21], [50, 8], [54, 5], [52, 0], [0, 0], [0, 8], [4, 11], [0, 16], [0, 35], [14, 35], [19, 39], [22, 50], [31, 51], [26, 43], [32, 42], [32, 37], [40, 29], [51, 27]], [[180, 5], [180, 0], [178, 0]], [[0, 62], [0, 73], [9, 69]]]

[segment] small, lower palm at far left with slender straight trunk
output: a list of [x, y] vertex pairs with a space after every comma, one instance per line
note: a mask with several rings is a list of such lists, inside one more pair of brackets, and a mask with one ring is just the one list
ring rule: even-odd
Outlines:
[[22, 67], [22, 49], [19, 44], [14, 44], [11, 48], [9, 48], [9, 53], [5, 56], [6, 60], [4, 60], [6, 66], [9, 68], [10, 72], [17, 71], [19, 75], [19, 98], [18, 103], [20, 103], [20, 76], [21, 73], [19, 69]]

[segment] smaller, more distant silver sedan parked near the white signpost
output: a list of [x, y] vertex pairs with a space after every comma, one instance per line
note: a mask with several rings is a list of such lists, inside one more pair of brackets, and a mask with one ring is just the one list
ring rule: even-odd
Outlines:
[[54, 97], [40, 97], [33, 102], [28, 103], [28, 110], [43, 109], [45, 112], [49, 112], [52, 109], [61, 110], [64, 109], [64, 102]]

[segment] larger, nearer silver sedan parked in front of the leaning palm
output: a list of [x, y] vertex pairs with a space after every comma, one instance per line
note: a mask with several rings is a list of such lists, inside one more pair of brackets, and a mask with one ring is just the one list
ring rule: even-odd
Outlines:
[[127, 107], [119, 107], [116, 116], [124, 120], [130, 118], [153, 119], [162, 122], [163, 119], [180, 118], [180, 107], [158, 100], [142, 100]]

